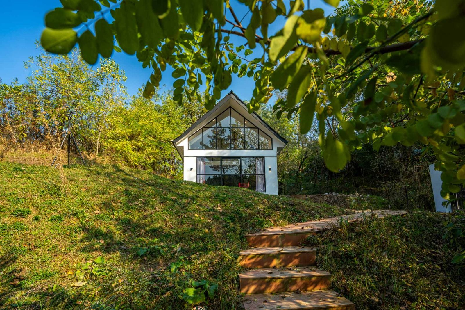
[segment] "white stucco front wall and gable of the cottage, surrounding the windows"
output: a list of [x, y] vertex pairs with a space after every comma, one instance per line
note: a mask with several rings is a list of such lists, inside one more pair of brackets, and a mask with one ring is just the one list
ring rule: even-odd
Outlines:
[[[201, 150], [189, 149], [188, 137], [195, 133], [199, 128], [211, 121], [213, 118], [222, 113], [226, 108], [233, 107], [240, 114], [246, 117], [256, 127], [272, 137], [271, 150]], [[265, 158], [265, 185], [266, 194], [278, 195], [278, 167], [277, 153], [278, 148], [285, 147], [286, 144], [277, 138], [268, 128], [266, 128], [255, 116], [250, 115], [244, 105], [236, 100], [230, 99], [224, 104], [217, 113], [211, 115], [206, 121], [194, 128], [186, 137], [176, 143], [177, 148], [182, 148], [184, 159], [184, 180], [197, 182], [197, 157], [264, 157]], [[271, 168], [271, 171], [270, 171]]]

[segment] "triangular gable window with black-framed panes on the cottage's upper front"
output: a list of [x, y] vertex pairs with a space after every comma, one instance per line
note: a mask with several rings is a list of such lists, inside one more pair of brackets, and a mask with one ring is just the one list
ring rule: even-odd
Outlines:
[[272, 139], [233, 108], [191, 135], [189, 149], [272, 149]]

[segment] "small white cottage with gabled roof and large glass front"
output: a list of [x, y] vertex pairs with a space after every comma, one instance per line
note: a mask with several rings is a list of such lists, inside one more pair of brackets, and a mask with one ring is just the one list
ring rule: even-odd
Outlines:
[[232, 91], [173, 144], [186, 181], [278, 195], [276, 157], [287, 140]]

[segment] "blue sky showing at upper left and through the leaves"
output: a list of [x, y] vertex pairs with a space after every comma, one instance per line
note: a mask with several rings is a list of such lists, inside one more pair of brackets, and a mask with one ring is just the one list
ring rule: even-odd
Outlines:
[[[310, 3], [310, 8], [321, 7], [325, 10], [326, 15], [332, 12], [332, 7], [328, 6], [323, 0], [307, 0], [304, 1], [306, 6]], [[288, 1], [285, 0], [286, 5]], [[236, 9], [236, 15], [241, 19], [246, 13], [244, 5], [238, 3], [237, 0], [231, 0], [233, 8]], [[0, 10], [0, 78], [3, 83], [10, 83], [15, 78], [18, 78], [20, 83], [26, 81], [27, 76], [31, 73], [31, 69], [25, 69], [23, 62], [27, 61], [29, 56], [38, 54], [38, 50], [34, 46], [34, 41], [39, 40], [40, 34], [44, 29], [44, 16], [49, 10], [55, 7], [60, 7], [60, 0], [23, 0], [2, 1]], [[240, 9], [239, 9], [240, 8]], [[233, 20], [229, 11], [227, 18]], [[243, 26], [246, 27], [250, 13], [245, 17]], [[269, 34], [273, 34], [280, 27], [284, 18], [281, 17], [275, 28], [269, 30]], [[226, 29], [231, 29], [231, 25], [226, 24]], [[236, 28], [237, 30], [237, 28]], [[246, 39], [231, 36], [231, 41], [234, 44], [240, 45], [246, 42]], [[254, 50], [257, 57], [261, 55], [259, 48]], [[252, 57], [254, 54], [248, 56]], [[127, 55], [123, 53], [113, 53], [112, 58], [120, 64], [121, 69], [125, 70], [127, 81], [126, 87], [129, 94], [135, 94], [143, 84], [146, 83], [152, 69], [142, 68], [142, 64], [137, 61], [135, 55]], [[160, 88], [171, 87], [173, 84], [168, 68], [163, 74], [163, 79], [160, 83]], [[233, 90], [243, 100], [249, 100], [252, 96], [254, 81], [252, 78], [238, 78], [233, 75], [231, 86], [222, 92], [222, 96]]]

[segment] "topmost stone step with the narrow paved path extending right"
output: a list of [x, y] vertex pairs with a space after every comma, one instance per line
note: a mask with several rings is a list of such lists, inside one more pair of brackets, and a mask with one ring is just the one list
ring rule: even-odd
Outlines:
[[298, 246], [308, 236], [316, 235], [321, 231], [338, 227], [341, 220], [352, 222], [362, 220], [365, 216], [396, 216], [403, 215], [405, 211], [393, 210], [365, 210], [354, 211], [353, 214], [326, 218], [318, 221], [309, 221], [291, 224], [283, 227], [272, 227], [258, 233], [246, 235], [247, 242], [251, 247], [282, 247]]

